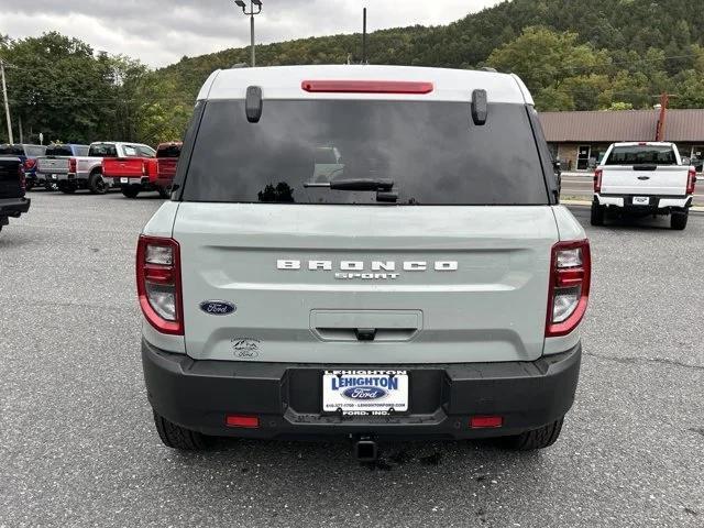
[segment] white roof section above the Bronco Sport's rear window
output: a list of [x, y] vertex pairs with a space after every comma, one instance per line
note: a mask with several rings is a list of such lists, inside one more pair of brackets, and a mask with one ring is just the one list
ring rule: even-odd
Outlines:
[[[426, 95], [309, 94], [304, 80], [407, 80], [433, 84]], [[198, 99], [243, 99], [249, 86], [260, 86], [264, 99], [386, 99], [470, 101], [475, 89], [486, 90], [488, 102], [532, 105], [526, 85], [516, 76], [494, 72], [410, 66], [273, 66], [213, 72]]]

